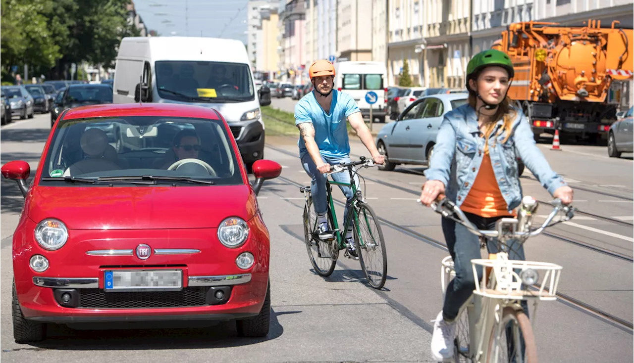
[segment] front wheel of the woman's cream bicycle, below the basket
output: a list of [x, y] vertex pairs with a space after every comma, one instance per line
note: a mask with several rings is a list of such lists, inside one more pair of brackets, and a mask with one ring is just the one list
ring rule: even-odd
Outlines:
[[[505, 307], [500, 324], [503, 326], [500, 334], [498, 334], [497, 324], [491, 330], [486, 362], [516, 362], [516, 357], [523, 355], [522, 362], [537, 363], [537, 347], [533, 326], [531, 326], [526, 314], [522, 310]], [[524, 349], [522, 349], [521, 344], [522, 338]]]

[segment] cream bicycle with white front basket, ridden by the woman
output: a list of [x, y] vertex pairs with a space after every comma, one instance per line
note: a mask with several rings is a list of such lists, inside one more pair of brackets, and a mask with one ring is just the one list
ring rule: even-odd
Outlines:
[[[446, 198], [432, 203], [436, 212], [455, 220], [479, 236], [482, 249], [488, 245], [488, 241], [496, 241], [498, 251], [489, 253], [488, 259], [471, 260], [476, 281], [475, 290], [456, 317], [456, 362], [537, 362], [537, 347], [533, 335], [537, 305], [540, 301], [557, 300], [557, 284], [562, 267], [548, 262], [509, 260], [508, 248], [523, 244], [526, 239], [537, 236], [546, 227], [573, 218], [572, 206], [562, 205], [559, 199], [549, 203], [554, 209], [542, 226], [534, 230], [531, 230], [531, 224], [538, 202], [530, 196], [522, 199], [517, 218], [498, 220], [495, 230], [477, 229], [462, 210]], [[564, 212], [564, 216], [551, 224], [560, 211]], [[455, 272], [451, 256], [443, 258], [441, 263], [441, 287], [444, 296]], [[482, 267], [481, 281], [477, 278], [477, 266]], [[521, 305], [524, 300], [533, 302], [530, 321]]]

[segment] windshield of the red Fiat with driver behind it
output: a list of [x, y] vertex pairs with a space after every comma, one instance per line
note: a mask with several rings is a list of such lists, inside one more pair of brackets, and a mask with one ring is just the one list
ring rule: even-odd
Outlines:
[[[154, 179], [183, 177], [210, 182], [157, 180], [157, 184], [242, 184], [238, 156], [230, 140], [219, 120], [159, 116], [60, 120], [46, 155], [42, 182], [104, 186], [107, 182], [98, 178], [130, 180], [152, 175]], [[64, 177], [97, 182], [65, 182]]]

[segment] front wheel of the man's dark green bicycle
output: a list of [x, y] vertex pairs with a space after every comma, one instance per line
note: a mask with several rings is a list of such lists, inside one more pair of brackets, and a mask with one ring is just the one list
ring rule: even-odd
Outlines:
[[[357, 209], [357, 233], [354, 245], [359, 254], [361, 269], [368, 283], [375, 289], [382, 289], [387, 277], [387, 252], [383, 231], [374, 210], [366, 203], [359, 203]], [[359, 238], [360, 236], [360, 238]]]

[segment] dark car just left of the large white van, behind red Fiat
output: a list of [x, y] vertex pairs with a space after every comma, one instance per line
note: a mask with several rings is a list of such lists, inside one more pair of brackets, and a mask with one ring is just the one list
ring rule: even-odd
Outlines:
[[[56, 99], [57, 101], [57, 99]], [[68, 86], [51, 112], [51, 127], [61, 111], [85, 105], [112, 103], [112, 87], [108, 84], [71, 84]]]

